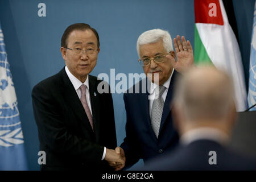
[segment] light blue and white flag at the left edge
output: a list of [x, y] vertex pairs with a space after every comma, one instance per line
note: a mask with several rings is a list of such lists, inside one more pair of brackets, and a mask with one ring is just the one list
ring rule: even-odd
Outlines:
[[0, 170], [27, 170], [18, 102], [0, 24]]

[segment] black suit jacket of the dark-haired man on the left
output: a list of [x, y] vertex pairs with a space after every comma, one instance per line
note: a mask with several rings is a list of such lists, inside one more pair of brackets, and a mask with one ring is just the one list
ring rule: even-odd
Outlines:
[[46, 165], [41, 169], [110, 169], [101, 158], [104, 146], [117, 146], [113, 100], [110, 92], [97, 92], [100, 82], [89, 75], [94, 132], [64, 68], [34, 86], [32, 103], [40, 150], [46, 152]]

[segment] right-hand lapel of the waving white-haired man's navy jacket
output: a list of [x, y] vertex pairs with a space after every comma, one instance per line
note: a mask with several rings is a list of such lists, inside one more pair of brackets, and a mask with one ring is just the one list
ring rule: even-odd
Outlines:
[[162, 119], [161, 119], [161, 123], [160, 123], [160, 129], [159, 129], [159, 134], [163, 128], [164, 123], [166, 122], [166, 118], [169, 114], [171, 114], [171, 100], [172, 100], [172, 93], [174, 90], [174, 81], [175, 81], [175, 77], [177, 75], [177, 72], [174, 71], [174, 74], [171, 77], [171, 81], [170, 81], [170, 85], [169, 85], [169, 89], [167, 92], [167, 96], [166, 96], [166, 100], [164, 101], [164, 108], [163, 108], [163, 114], [162, 114]]

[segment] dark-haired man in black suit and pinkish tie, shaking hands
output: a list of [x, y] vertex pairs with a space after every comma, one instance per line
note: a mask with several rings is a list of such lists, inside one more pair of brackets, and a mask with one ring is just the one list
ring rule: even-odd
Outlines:
[[72, 24], [61, 38], [66, 66], [32, 90], [40, 150], [46, 152], [42, 170], [113, 169], [110, 162], [125, 163], [113, 150], [117, 140], [110, 89], [100, 94], [101, 80], [89, 75], [98, 52], [97, 31]]

